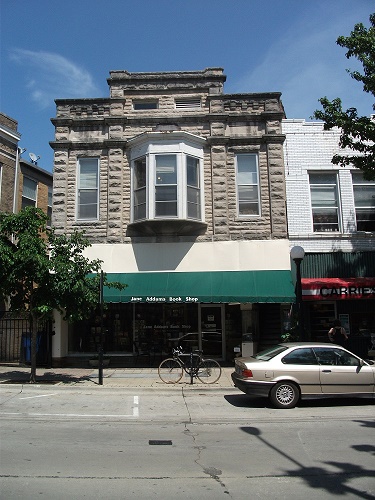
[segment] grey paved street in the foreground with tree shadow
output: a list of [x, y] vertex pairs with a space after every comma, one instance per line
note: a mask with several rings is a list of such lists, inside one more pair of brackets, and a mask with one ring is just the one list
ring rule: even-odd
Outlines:
[[0, 385], [1, 498], [375, 498], [374, 404]]

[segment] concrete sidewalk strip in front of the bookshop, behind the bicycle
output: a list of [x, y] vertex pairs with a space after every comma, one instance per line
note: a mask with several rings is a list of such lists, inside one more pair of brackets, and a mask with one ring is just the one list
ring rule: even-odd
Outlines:
[[[64, 386], [64, 387], [107, 387], [107, 388], [167, 388], [184, 387], [191, 389], [233, 389], [230, 374], [233, 367], [222, 367], [220, 379], [214, 384], [203, 384], [184, 376], [178, 384], [165, 384], [158, 376], [157, 368], [104, 368], [103, 385], [99, 385], [99, 370], [97, 368], [37, 368], [37, 382], [34, 385]], [[30, 367], [19, 365], [0, 365], [0, 388], [5, 385], [28, 384]]]

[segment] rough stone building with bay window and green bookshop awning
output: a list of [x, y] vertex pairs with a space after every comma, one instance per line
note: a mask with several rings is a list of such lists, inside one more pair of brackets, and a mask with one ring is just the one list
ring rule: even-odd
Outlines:
[[[87, 255], [128, 284], [105, 290], [114, 354], [148, 334], [163, 352], [190, 336], [230, 359], [243, 334], [282, 332], [294, 292], [281, 94], [225, 94], [225, 80], [111, 71], [108, 98], [56, 100], [53, 225], [85, 230]], [[79, 329], [57, 332], [56, 363], [95, 350], [94, 320]]]

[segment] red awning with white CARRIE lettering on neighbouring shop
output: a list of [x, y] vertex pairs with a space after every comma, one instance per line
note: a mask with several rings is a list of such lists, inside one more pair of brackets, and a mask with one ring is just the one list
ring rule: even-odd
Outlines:
[[374, 298], [375, 278], [302, 278], [302, 300]]

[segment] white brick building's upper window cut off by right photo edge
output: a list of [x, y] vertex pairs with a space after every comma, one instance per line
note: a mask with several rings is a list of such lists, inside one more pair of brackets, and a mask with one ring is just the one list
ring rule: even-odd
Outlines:
[[352, 172], [357, 231], [375, 231], [375, 181], [366, 181], [362, 172]]

